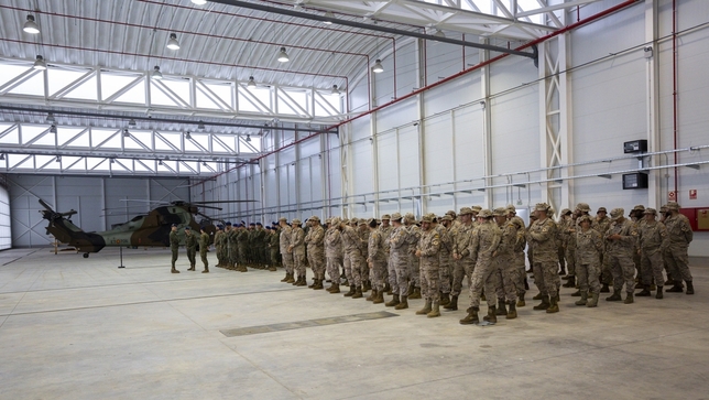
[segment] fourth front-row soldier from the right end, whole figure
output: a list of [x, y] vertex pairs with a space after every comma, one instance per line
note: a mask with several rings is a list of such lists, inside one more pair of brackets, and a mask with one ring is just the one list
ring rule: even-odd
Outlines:
[[[576, 275], [578, 277], [581, 299], [576, 305], [595, 307], [598, 305], [598, 294], [601, 292], [599, 274], [601, 273], [600, 253], [603, 251], [603, 236], [591, 229], [591, 217], [582, 215], [578, 218], [580, 228], [574, 233], [576, 245]], [[589, 294], [591, 300], [588, 300]]]

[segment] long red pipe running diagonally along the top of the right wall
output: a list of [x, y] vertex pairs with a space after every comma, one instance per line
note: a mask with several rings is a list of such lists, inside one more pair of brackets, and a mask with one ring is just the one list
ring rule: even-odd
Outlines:
[[[603, 11], [601, 11], [601, 12], [597, 13], [597, 14], [593, 14], [593, 15], [591, 15], [591, 17], [587, 18], [587, 19], [583, 19], [583, 20], [578, 21], [578, 22], [575, 22], [575, 23], [572, 23], [572, 24], [570, 24], [570, 25], [564, 26], [564, 28], [561, 28], [561, 29], [560, 29], [560, 30], [558, 30], [558, 31], [555, 31], [555, 32], [553, 32], [553, 33], [549, 33], [548, 35], [542, 36], [542, 37], [536, 39], [536, 40], [534, 40], [534, 41], [532, 41], [532, 42], [530, 42], [530, 43], [523, 44], [523, 45], [521, 45], [520, 47], [517, 47], [517, 48], [515, 48], [515, 50], [521, 51], [521, 50], [527, 48], [527, 47], [530, 47], [530, 46], [533, 46], [533, 45], [535, 45], [535, 44], [542, 43], [542, 42], [544, 42], [544, 41], [546, 41], [546, 40], [549, 40], [549, 39], [552, 39], [552, 37], [555, 37], [555, 36], [560, 35], [560, 34], [563, 34], [563, 33], [569, 32], [569, 31], [571, 31], [571, 30], [574, 30], [574, 29], [576, 29], [576, 28], [579, 28], [579, 26], [581, 26], [581, 25], [585, 25], [585, 24], [587, 24], [587, 23], [589, 23], [589, 22], [596, 21], [596, 20], [598, 20], [598, 19], [601, 19], [601, 18], [603, 18], [603, 17], [607, 17], [607, 15], [609, 15], [609, 14], [612, 14], [612, 13], [614, 13], [614, 12], [617, 12], [617, 11], [620, 11], [620, 10], [622, 10], [622, 9], [624, 9], [624, 8], [629, 7], [629, 6], [632, 6], [632, 4], [634, 4], [634, 3], [639, 2], [639, 1], [640, 1], [640, 0], [626, 0], [626, 1], [624, 1], [624, 2], [622, 2], [622, 3], [620, 3], [620, 4], [618, 4], [618, 6], [613, 6], [613, 7], [609, 8], [609, 9], [603, 10]], [[673, 1], [674, 1], [674, 0], [673, 0]], [[389, 101], [389, 102], [386, 102], [386, 104], [384, 104], [384, 105], [381, 105], [381, 106], [374, 107], [374, 108], [370, 109], [369, 111], [366, 111], [366, 112], [360, 113], [359, 116], [356, 116], [356, 117], [352, 117], [352, 118], [350, 118], [350, 119], [347, 119], [347, 120], [345, 120], [345, 121], [342, 121], [342, 122], [336, 123], [336, 125], [334, 125], [334, 126], [331, 126], [331, 127], [329, 127], [329, 128], [325, 129], [325, 130], [324, 130], [324, 131], [321, 131], [321, 132], [315, 132], [315, 133], [313, 133], [313, 134], [308, 134], [307, 137], [305, 137], [305, 138], [303, 138], [303, 139], [301, 139], [301, 140], [296, 140], [296, 141], [294, 141], [293, 143], [286, 144], [286, 145], [284, 145], [284, 147], [282, 147], [282, 148], [280, 148], [280, 149], [276, 149], [276, 150], [270, 151], [270, 152], [268, 152], [268, 153], [265, 153], [265, 154], [263, 154], [263, 155], [260, 155], [260, 156], [258, 156], [258, 158], [255, 158], [255, 159], [253, 159], [253, 160], [251, 160], [251, 161], [254, 161], [254, 160], [255, 160], [255, 161], [261, 160], [261, 159], [266, 158], [266, 156], [269, 156], [269, 155], [271, 155], [271, 154], [273, 154], [273, 153], [275, 153], [275, 152], [279, 152], [279, 151], [281, 151], [281, 150], [287, 149], [287, 148], [290, 148], [290, 147], [292, 147], [292, 145], [295, 145], [295, 144], [297, 144], [297, 143], [301, 143], [301, 142], [303, 142], [303, 141], [306, 141], [306, 140], [308, 140], [308, 139], [312, 139], [312, 138], [314, 138], [314, 137], [316, 137], [316, 136], [318, 136], [318, 134], [327, 133], [327, 131], [328, 131], [328, 130], [331, 130], [331, 129], [334, 129], [334, 128], [339, 128], [339, 127], [341, 127], [341, 126], [343, 126], [343, 125], [346, 125], [346, 123], [349, 123], [349, 122], [352, 122], [352, 121], [354, 121], [354, 120], [357, 120], [357, 119], [360, 119], [360, 118], [362, 118], [362, 117], [369, 116], [369, 115], [371, 115], [371, 113], [373, 113], [373, 112], [377, 112], [377, 111], [379, 111], [379, 110], [381, 110], [381, 109], [383, 109], [383, 108], [386, 108], [386, 107], [392, 106], [392, 105], [394, 105], [394, 104], [396, 104], [396, 102], [403, 101], [403, 100], [405, 100], [405, 99], [407, 99], [407, 98], [410, 98], [410, 97], [416, 96], [416, 95], [418, 95], [418, 94], [421, 94], [421, 93], [423, 93], [423, 91], [426, 91], [426, 90], [428, 90], [428, 89], [432, 89], [432, 88], [434, 88], [434, 87], [437, 87], [437, 86], [440, 86], [440, 85], [443, 85], [443, 84], [445, 84], [445, 83], [448, 83], [448, 82], [450, 82], [450, 80], [452, 80], [452, 79], [456, 79], [456, 78], [458, 78], [458, 77], [460, 77], [460, 76], [462, 76], [462, 75], [466, 75], [466, 74], [468, 74], [468, 73], [470, 73], [470, 72], [472, 72], [472, 71], [480, 69], [480, 68], [482, 68], [482, 67], [484, 67], [484, 66], [487, 66], [487, 65], [490, 65], [490, 64], [492, 64], [492, 63], [494, 63], [494, 62], [498, 62], [498, 61], [500, 61], [500, 60], [502, 60], [502, 58], [504, 58], [504, 57], [506, 57], [506, 56], [509, 56], [509, 55], [510, 55], [510, 54], [506, 54], [506, 53], [505, 53], [505, 54], [500, 54], [500, 55], [498, 55], [498, 56], [495, 56], [495, 57], [492, 57], [492, 58], [490, 58], [490, 60], [488, 60], [488, 61], [486, 61], [486, 62], [482, 62], [482, 63], [480, 63], [480, 64], [476, 64], [476, 65], [471, 66], [471, 67], [470, 67], [470, 68], [468, 68], [468, 69], [465, 69], [465, 71], [459, 72], [458, 74], [454, 74], [454, 75], [451, 75], [451, 76], [449, 76], [449, 77], [447, 77], [447, 78], [445, 78], [445, 79], [437, 80], [437, 82], [435, 82], [435, 83], [433, 83], [433, 84], [430, 84], [430, 85], [428, 85], [428, 86], [426, 86], [426, 87], [422, 87], [422, 88], [419, 88], [419, 89], [413, 90], [412, 93], [406, 94], [406, 95], [402, 96], [401, 98], [397, 98], [397, 99], [394, 99], [394, 100], [392, 100], [392, 101]], [[234, 166], [234, 167], [232, 167], [232, 169], [229, 169], [229, 170], [227, 170], [227, 171], [222, 171], [222, 172], [218, 173], [217, 175], [214, 175], [214, 176], [209, 177], [208, 180], [212, 180], [212, 179], [215, 179], [215, 177], [217, 177], [217, 176], [223, 175], [223, 174], [226, 174], [226, 173], [228, 173], [228, 172], [230, 172], [230, 171], [233, 171], [233, 170], [236, 170], [236, 169], [238, 169], [238, 167], [241, 167], [241, 166], [243, 166], [243, 165], [246, 165], [246, 164], [247, 164], [247, 163], [242, 163], [242, 164], [237, 165], [237, 166]]]

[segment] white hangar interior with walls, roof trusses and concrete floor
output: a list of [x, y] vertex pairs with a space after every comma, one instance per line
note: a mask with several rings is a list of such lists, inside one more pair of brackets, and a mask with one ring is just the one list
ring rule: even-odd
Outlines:
[[[699, 332], [708, 321], [696, 316], [702, 307], [706, 315], [706, 268], [697, 269], [699, 294], [689, 303], [601, 316], [569, 311], [563, 322], [530, 315], [524, 325], [477, 331], [482, 342], [463, 347], [467, 356], [459, 344], [471, 335], [457, 318], [242, 338], [223, 332], [366, 311], [257, 273], [215, 271], [203, 282], [183, 273], [167, 287], [162, 249], [126, 252], [129, 268], [119, 271], [117, 249], [84, 264], [50, 256], [37, 201], [77, 210], [77, 226], [101, 231], [148, 213], [148, 202], [181, 199], [248, 201], [201, 212], [263, 224], [508, 204], [528, 221], [541, 202], [556, 210], [585, 202], [595, 214], [676, 199], [696, 216], [692, 267], [706, 267], [709, 2], [0, 0], [0, 250], [14, 248], [0, 252], [0, 343], [17, 360], [2, 367], [0, 397], [231, 398], [231, 382], [240, 398], [542, 397], [552, 390], [538, 383], [547, 375], [579, 385], [554, 383], [561, 397], [596, 398], [598, 381], [632, 381], [623, 398], [706, 396], [706, 360], [696, 358], [706, 352]], [[304, 309], [308, 315], [298, 315]], [[106, 318], [124, 329], [101, 325]], [[141, 328], [156, 321], [163, 339], [160, 327]], [[84, 344], [73, 352], [74, 335]], [[61, 349], [37, 343], [50, 338]], [[171, 343], [192, 358], [172, 354]], [[350, 354], [358, 349], [362, 358]], [[556, 358], [547, 364], [549, 352]], [[475, 367], [466, 359], [472, 353], [481, 357]], [[596, 380], [568, 375], [577, 353]], [[634, 378], [623, 353], [647, 378]], [[97, 367], [101, 358], [112, 361]], [[43, 359], [68, 369], [53, 371]], [[190, 363], [216, 386], [182, 382], [181, 374], [195, 372]], [[405, 375], [399, 381], [396, 368]], [[510, 386], [516, 394], [505, 396], [494, 378], [519, 374], [525, 378]], [[651, 381], [667, 386], [651, 390]]]

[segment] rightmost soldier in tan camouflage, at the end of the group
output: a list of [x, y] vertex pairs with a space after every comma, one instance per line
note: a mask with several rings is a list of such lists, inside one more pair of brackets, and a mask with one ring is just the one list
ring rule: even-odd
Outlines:
[[687, 294], [695, 294], [695, 287], [689, 272], [689, 256], [687, 249], [692, 239], [691, 226], [686, 216], [679, 214], [679, 204], [676, 202], [667, 203], [667, 218], [665, 226], [669, 235], [669, 247], [667, 249], [668, 269], [672, 271], [672, 278], [675, 285], [667, 292], [681, 293], [681, 281], [687, 283]]

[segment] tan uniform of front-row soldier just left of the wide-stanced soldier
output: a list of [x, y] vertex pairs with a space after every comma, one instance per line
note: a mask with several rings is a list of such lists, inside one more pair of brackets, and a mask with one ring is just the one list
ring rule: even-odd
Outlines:
[[[424, 221], [430, 221], [425, 218]], [[416, 251], [421, 255], [421, 290], [422, 296], [427, 302], [438, 303], [440, 300], [439, 271], [440, 268], [440, 236], [438, 229], [421, 229], [421, 239], [416, 245]]]

